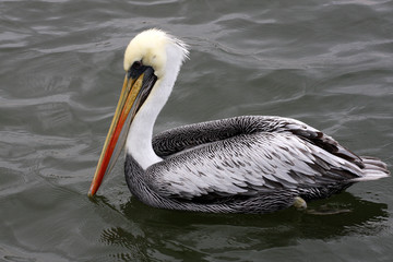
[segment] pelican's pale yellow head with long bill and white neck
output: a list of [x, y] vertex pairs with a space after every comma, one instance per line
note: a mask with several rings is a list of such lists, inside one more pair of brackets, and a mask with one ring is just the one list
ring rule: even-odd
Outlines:
[[184, 43], [159, 29], [144, 31], [130, 41], [124, 53], [124, 83], [90, 196], [110, 172], [126, 141], [128, 153], [143, 168], [160, 160], [152, 148], [153, 126], [188, 53]]

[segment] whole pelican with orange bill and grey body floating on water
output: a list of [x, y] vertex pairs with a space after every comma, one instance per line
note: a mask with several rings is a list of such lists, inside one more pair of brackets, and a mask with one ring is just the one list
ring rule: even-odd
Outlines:
[[124, 144], [131, 193], [163, 209], [266, 213], [389, 176], [381, 160], [357, 156], [290, 118], [235, 117], [153, 136], [188, 53], [186, 44], [159, 29], [142, 32], [130, 41], [124, 84], [90, 196]]

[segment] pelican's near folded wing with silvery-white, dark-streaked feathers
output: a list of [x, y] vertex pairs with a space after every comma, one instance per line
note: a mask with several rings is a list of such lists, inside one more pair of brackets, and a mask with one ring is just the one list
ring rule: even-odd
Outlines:
[[255, 133], [169, 156], [147, 174], [157, 192], [186, 199], [212, 192], [247, 195], [342, 180], [332, 170], [338, 157], [321, 152], [290, 134]]

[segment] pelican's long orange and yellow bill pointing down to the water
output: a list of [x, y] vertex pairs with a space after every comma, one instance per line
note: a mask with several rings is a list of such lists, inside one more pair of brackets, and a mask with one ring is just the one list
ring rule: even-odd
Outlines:
[[97, 192], [104, 176], [110, 172], [121, 153], [132, 119], [145, 99], [145, 97], [141, 96], [144, 93], [141, 91], [147, 86], [150, 92], [155, 82], [147, 81], [146, 83], [145, 80], [145, 73], [140, 74], [136, 79], [126, 75], [120, 99], [98, 160], [88, 196], [93, 196]]

